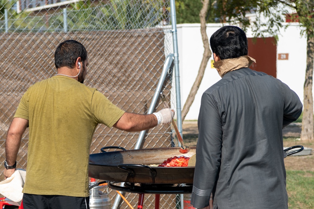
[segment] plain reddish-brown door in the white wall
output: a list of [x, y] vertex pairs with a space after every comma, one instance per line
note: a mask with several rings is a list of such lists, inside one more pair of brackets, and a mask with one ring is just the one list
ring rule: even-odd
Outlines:
[[248, 38], [248, 55], [256, 60], [251, 69], [276, 78], [277, 44], [274, 37]]

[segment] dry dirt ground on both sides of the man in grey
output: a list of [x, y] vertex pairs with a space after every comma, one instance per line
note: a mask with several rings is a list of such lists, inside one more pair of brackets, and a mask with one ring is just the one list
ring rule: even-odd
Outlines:
[[[185, 145], [196, 146], [198, 138], [197, 121], [184, 121], [182, 124], [182, 134]], [[284, 159], [287, 170], [303, 170], [314, 172], [314, 143], [300, 141], [301, 124], [293, 123], [283, 129], [284, 147], [302, 145], [311, 148], [310, 155], [288, 156]]]

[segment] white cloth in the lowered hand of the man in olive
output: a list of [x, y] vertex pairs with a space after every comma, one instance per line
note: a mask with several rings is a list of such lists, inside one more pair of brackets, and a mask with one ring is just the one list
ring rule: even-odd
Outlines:
[[0, 193], [11, 201], [21, 201], [23, 199], [22, 190], [25, 182], [25, 176], [25, 170], [16, 169], [9, 178], [0, 182]]

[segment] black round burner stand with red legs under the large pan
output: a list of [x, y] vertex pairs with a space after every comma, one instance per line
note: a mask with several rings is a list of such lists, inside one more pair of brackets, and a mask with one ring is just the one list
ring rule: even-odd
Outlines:
[[144, 195], [155, 194], [155, 209], [159, 209], [160, 194], [186, 194], [192, 192], [192, 184], [139, 184], [124, 183], [124, 186], [118, 186], [120, 182], [110, 181], [108, 187], [122, 192], [138, 193], [138, 209], [143, 209]]

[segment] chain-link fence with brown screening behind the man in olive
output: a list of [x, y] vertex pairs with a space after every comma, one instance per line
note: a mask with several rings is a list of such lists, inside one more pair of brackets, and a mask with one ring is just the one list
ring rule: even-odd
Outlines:
[[[96, 87], [127, 112], [146, 114], [152, 101], [165, 57], [173, 53], [169, 26], [169, 0], [18, 0], [0, 1], [0, 163], [5, 160], [5, 138], [19, 100], [29, 86], [56, 75], [54, 51], [67, 39], [87, 49], [86, 85]], [[162, 91], [171, 100], [172, 68]], [[157, 102], [156, 109], [162, 107]], [[57, 131], [57, 130], [56, 130]], [[171, 147], [170, 125], [146, 131], [140, 148]], [[100, 125], [90, 153], [105, 146], [134, 149], [139, 133]], [[28, 129], [18, 153], [17, 168], [26, 169]], [[3, 167], [2, 167], [3, 168]], [[1, 172], [0, 180], [4, 180]], [[116, 197], [110, 191], [111, 203]], [[126, 194], [131, 205], [137, 195]], [[144, 206], [154, 206], [146, 195]], [[175, 208], [175, 195], [161, 195], [160, 208]], [[122, 208], [127, 205], [122, 203]]]

